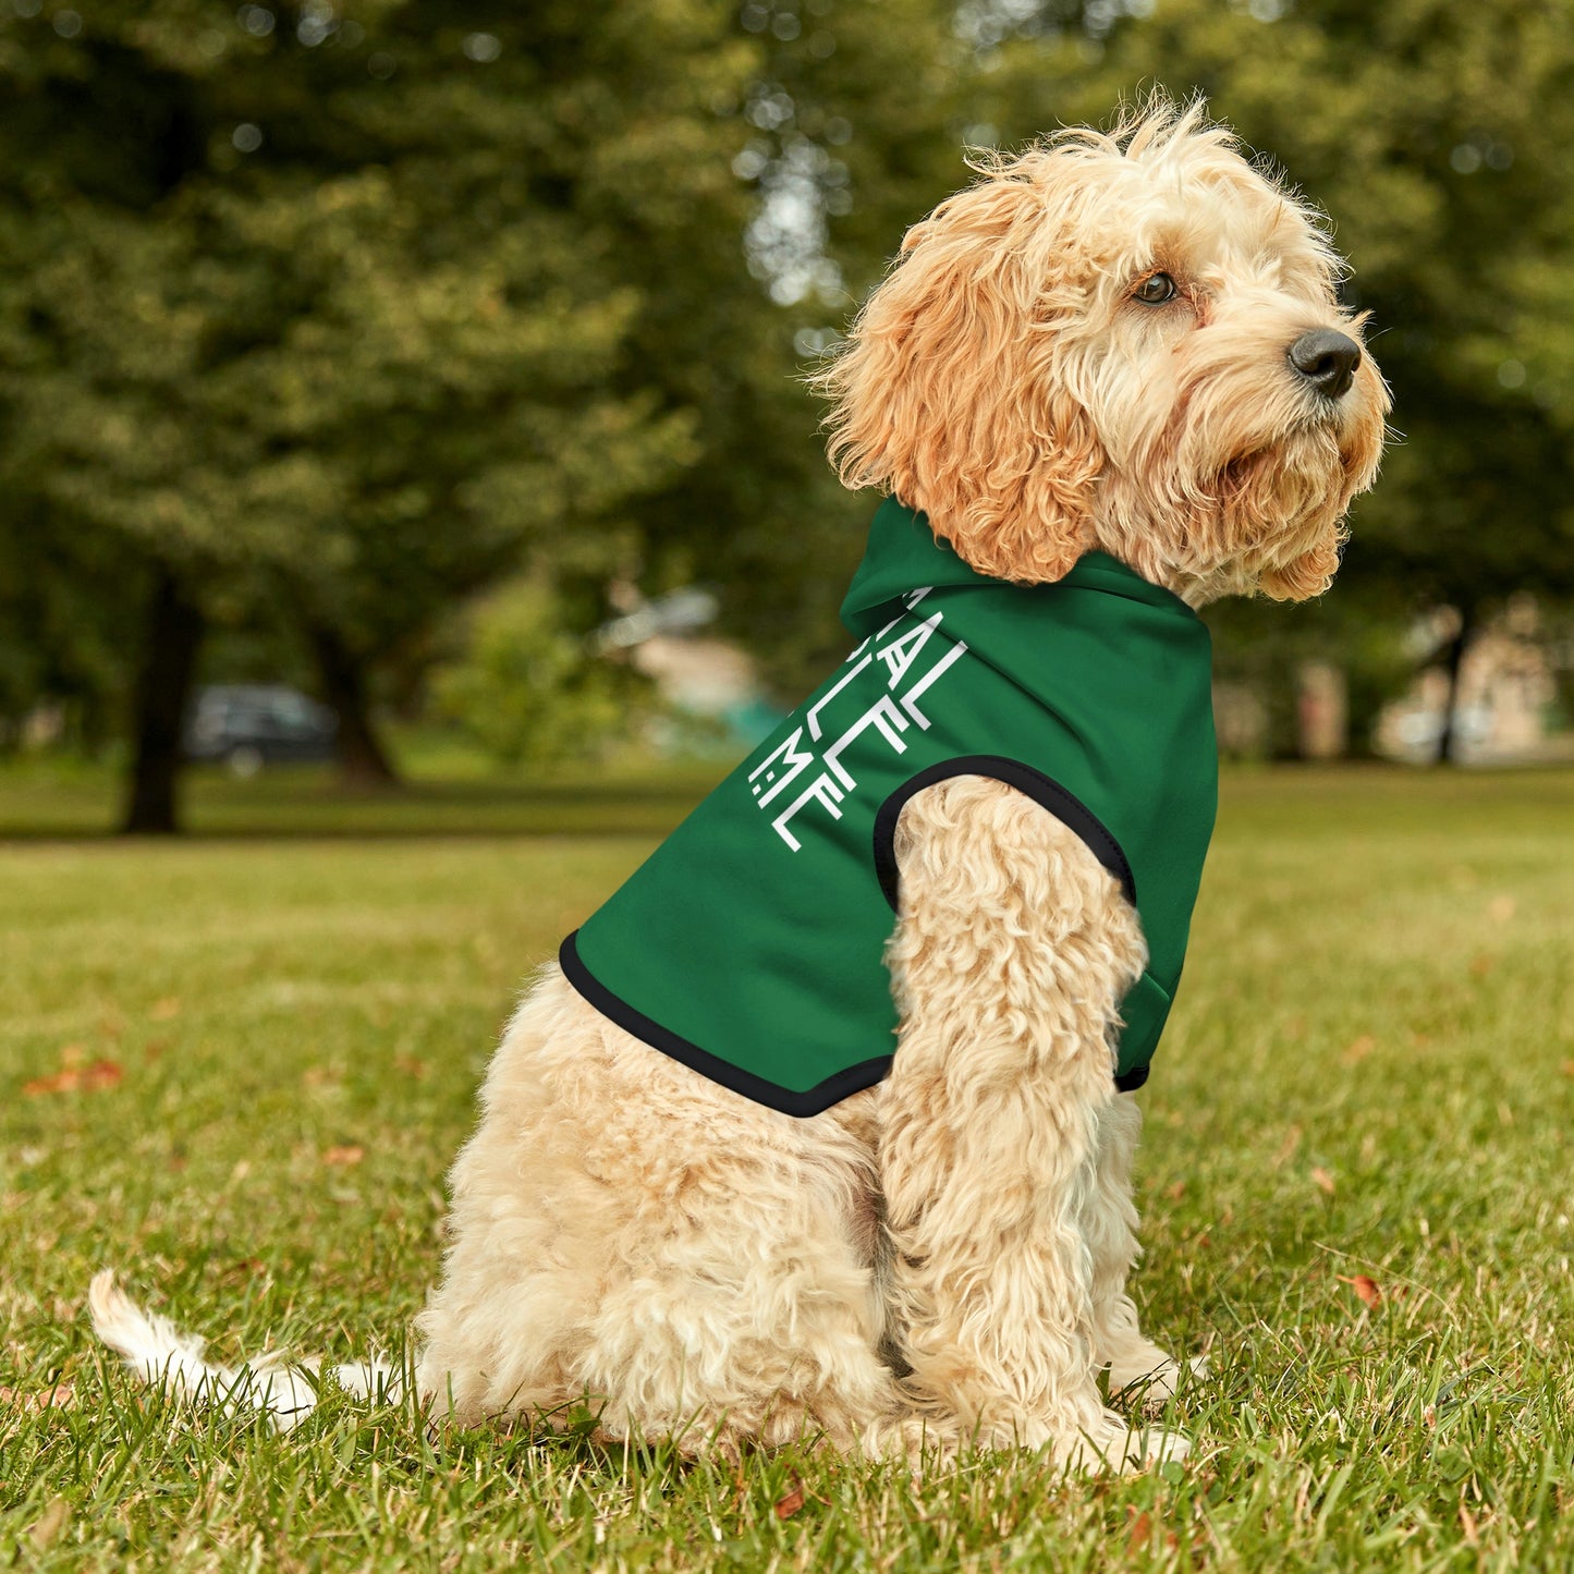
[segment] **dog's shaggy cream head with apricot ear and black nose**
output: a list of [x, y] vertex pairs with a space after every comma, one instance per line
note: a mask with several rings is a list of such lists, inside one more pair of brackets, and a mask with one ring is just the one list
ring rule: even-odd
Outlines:
[[1102, 548], [1195, 603], [1327, 589], [1388, 395], [1316, 216], [1163, 99], [981, 168], [818, 378], [844, 482], [1003, 579]]

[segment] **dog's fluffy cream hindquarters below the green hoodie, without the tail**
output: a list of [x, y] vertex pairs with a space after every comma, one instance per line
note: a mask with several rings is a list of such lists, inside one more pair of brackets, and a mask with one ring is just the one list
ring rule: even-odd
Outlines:
[[863, 1447], [897, 1407], [878, 1355], [872, 1099], [807, 1121], [767, 1110], [548, 968], [453, 1169], [422, 1393], [460, 1420], [552, 1424], [587, 1406], [606, 1437], [694, 1453]]

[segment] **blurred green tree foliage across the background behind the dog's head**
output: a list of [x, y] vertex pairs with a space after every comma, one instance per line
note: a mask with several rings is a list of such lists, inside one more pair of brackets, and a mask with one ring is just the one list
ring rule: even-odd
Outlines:
[[1336, 595], [1574, 597], [1574, 0], [65, 17], [0, 8], [0, 713], [102, 730], [161, 565], [406, 694], [524, 560], [576, 615], [614, 575], [704, 579], [801, 693], [869, 515], [803, 370], [963, 140], [1152, 82], [1209, 93], [1355, 260], [1402, 441]]

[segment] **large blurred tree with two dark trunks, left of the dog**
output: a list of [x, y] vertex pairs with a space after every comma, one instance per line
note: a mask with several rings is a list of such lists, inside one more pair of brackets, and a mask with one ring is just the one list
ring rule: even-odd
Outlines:
[[370, 664], [529, 551], [619, 567], [628, 501], [697, 458], [601, 209], [628, 184], [737, 236], [710, 102], [752, 52], [705, 0], [9, 11], [11, 573], [66, 537], [139, 568], [126, 825], [173, 828], [203, 622], [264, 597], [381, 774]]

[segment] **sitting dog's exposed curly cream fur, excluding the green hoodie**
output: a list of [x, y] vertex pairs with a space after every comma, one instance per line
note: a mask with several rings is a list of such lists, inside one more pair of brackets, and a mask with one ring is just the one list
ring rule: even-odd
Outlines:
[[[907, 236], [823, 375], [833, 456], [995, 579], [1100, 551], [1193, 608], [1317, 595], [1387, 411], [1338, 275], [1199, 107], [1061, 132]], [[589, 1396], [611, 1437], [722, 1453], [1184, 1453], [1097, 1385], [1176, 1377], [1127, 1294], [1140, 1116], [1111, 1042], [1147, 962], [1136, 910], [1083, 834], [985, 776], [911, 796], [894, 855], [889, 1072], [806, 1118], [543, 970], [453, 1166], [417, 1369], [439, 1412]], [[143, 1371], [209, 1373], [109, 1275], [93, 1305]]]

